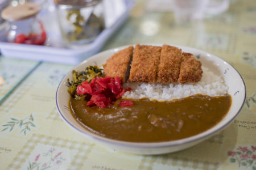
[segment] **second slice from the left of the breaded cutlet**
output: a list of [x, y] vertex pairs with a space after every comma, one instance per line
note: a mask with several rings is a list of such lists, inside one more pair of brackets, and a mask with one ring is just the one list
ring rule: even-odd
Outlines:
[[161, 54], [160, 46], [136, 45], [131, 62], [130, 82], [155, 83]]

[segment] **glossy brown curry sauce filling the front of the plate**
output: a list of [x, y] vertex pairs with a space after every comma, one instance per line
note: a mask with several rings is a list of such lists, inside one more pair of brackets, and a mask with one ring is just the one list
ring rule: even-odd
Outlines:
[[160, 142], [191, 137], [218, 124], [232, 104], [230, 95], [193, 95], [172, 101], [134, 99], [132, 107], [86, 107], [71, 97], [69, 108], [86, 129], [129, 142]]

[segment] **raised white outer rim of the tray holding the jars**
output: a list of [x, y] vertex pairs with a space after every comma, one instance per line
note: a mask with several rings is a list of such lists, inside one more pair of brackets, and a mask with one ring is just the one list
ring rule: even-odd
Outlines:
[[129, 18], [129, 12], [134, 1], [126, 1], [126, 11], [109, 28], [104, 29], [91, 44], [84, 49], [54, 48], [51, 46], [15, 44], [0, 41], [2, 56], [9, 58], [32, 59], [37, 61], [77, 64], [96, 54], [115, 31]]

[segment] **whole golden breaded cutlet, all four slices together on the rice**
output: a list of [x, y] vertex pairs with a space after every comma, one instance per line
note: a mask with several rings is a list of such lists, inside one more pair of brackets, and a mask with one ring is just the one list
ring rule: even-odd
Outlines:
[[123, 83], [129, 77], [130, 82], [181, 84], [199, 82], [203, 76], [201, 62], [193, 54], [166, 44], [129, 46], [106, 61], [104, 73], [119, 76]]

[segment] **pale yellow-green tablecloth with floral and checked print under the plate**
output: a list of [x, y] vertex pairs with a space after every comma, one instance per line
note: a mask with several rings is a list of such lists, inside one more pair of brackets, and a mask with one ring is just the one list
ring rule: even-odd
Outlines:
[[102, 50], [166, 43], [225, 59], [240, 72], [247, 92], [228, 128], [172, 154], [113, 151], [69, 128], [57, 112], [56, 88], [73, 65], [0, 57], [0, 169], [256, 169], [256, 1], [230, 1], [228, 11], [185, 24], [161, 9], [137, 1]]

